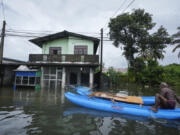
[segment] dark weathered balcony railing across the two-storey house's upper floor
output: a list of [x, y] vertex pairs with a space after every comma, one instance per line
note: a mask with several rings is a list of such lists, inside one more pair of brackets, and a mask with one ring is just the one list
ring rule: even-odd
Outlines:
[[49, 55], [49, 54], [30, 54], [29, 62], [84, 62], [84, 63], [99, 63], [99, 55]]

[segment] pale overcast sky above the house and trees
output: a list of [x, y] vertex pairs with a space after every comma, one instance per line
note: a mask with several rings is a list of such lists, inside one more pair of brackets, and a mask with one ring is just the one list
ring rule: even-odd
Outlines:
[[[1, 0], [2, 1], [2, 0]], [[77, 32], [85, 35], [100, 37], [101, 28], [108, 33], [107, 23], [117, 9], [117, 14], [122, 13], [132, 0], [3, 0], [0, 10], [0, 25], [5, 18], [7, 30], [26, 30], [28, 32], [49, 31], [60, 32], [63, 30]], [[122, 3], [125, 3], [123, 6]], [[135, 0], [125, 12], [132, 9], [145, 9], [153, 15], [157, 23], [155, 29], [163, 25], [169, 34], [177, 32], [180, 26], [180, 0]], [[106, 36], [106, 35], [105, 35]], [[30, 53], [41, 53], [41, 49], [28, 41], [29, 38], [5, 38], [4, 57], [28, 60]], [[166, 49], [165, 58], [161, 64], [180, 64], [177, 52], [172, 53], [174, 46]], [[122, 50], [115, 48], [112, 42], [104, 42], [104, 63], [106, 67], [127, 67]]]

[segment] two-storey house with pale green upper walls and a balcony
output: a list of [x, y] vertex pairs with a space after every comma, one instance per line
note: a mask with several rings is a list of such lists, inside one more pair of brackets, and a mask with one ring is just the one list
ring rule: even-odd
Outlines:
[[65, 87], [69, 84], [93, 87], [99, 39], [68, 31], [39, 37], [30, 42], [42, 48], [42, 54], [30, 54], [29, 62], [40, 65], [41, 87]]

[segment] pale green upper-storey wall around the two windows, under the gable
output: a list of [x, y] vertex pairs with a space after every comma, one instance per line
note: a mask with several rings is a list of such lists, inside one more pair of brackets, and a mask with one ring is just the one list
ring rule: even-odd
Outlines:
[[45, 43], [42, 48], [42, 53], [49, 54], [49, 47], [61, 47], [62, 54], [74, 54], [75, 45], [86, 45], [88, 46], [88, 54], [93, 54], [94, 42], [91, 40], [85, 40], [77, 37], [57, 39]]

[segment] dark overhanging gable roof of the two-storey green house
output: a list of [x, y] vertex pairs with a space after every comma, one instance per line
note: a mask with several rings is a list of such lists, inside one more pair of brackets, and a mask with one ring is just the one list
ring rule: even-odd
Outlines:
[[46, 42], [53, 41], [53, 40], [60, 39], [60, 38], [70, 37], [70, 36], [93, 41], [94, 42], [94, 52], [97, 51], [97, 47], [98, 47], [99, 41], [100, 41], [98, 38], [85, 36], [85, 35], [81, 35], [81, 34], [77, 34], [77, 33], [73, 33], [73, 32], [68, 32], [68, 31], [65, 31], [65, 30], [62, 31], [62, 32], [47, 35], [47, 36], [44, 36], [44, 37], [38, 37], [38, 38], [35, 38], [35, 39], [31, 39], [29, 41], [42, 48], [42, 45], [44, 43], [46, 43]]

